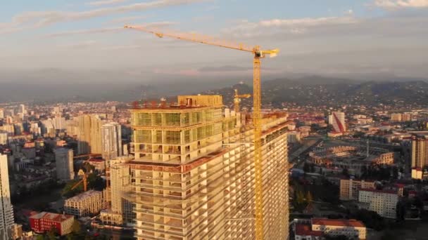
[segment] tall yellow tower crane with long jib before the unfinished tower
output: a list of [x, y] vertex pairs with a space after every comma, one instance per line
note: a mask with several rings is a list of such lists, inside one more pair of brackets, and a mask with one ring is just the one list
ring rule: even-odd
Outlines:
[[210, 36], [200, 34], [189, 34], [182, 32], [160, 32], [157, 30], [147, 29], [141, 26], [125, 26], [125, 28], [136, 29], [143, 32], [154, 34], [160, 38], [168, 36], [174, 39], [184, 41], [193, 41], [200, 44], [220, 46], [239, 51], [246, 51], [253, 55], [253, 125], [254, 125], [254, 178], [256, 180], [256, 239], [263, 240], [263, 166], [262, 166], [262, 126], [261, 126], [261, 81], [260, 81], [260, 59], [269, 55], [271, 58], [279, 53], [279, 49], [262, 50], [260, 46], [246, 46], [230, 41], [215, 39]]

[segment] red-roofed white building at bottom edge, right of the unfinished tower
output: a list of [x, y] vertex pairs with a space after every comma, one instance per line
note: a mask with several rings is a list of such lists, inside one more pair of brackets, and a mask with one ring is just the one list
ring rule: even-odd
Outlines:
[[353, 219], [295, 219], [294, 240], [322, 240], [326, 236], [346, 236], [351, 240], [365, 240], [367, 229], [363, 222]]

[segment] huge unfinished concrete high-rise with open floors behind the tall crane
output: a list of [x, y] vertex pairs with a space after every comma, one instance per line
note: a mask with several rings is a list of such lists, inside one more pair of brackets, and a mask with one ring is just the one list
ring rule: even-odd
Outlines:
[[[137, 239], [253, 239], [253, 130], [220, 95], [132, 109], [130, 185]], [[263, 119], [265, 239], [288, 237], [287, 116]], [[112, 183], [113, 185], [113, 183]]]

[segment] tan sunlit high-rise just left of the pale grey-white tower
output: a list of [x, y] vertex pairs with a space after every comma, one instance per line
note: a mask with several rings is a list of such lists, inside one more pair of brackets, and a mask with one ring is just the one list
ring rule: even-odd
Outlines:
[[103, 121], [96, 115], [82, 115], [77, 117], [77, 124], [79, 154], [101, 154], [101, 126]]

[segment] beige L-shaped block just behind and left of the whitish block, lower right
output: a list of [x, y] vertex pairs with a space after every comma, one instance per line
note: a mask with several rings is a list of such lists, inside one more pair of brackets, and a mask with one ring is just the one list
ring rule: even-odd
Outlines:
[[342, 201], [358, 201], [360, 189], [375, 189], [374, 182], [365, 180], [341, 179], [340, 199]]

